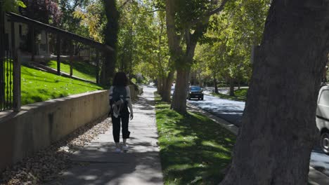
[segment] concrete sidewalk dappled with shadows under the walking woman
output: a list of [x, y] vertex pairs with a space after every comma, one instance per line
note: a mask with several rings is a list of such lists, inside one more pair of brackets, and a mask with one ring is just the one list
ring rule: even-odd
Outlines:
[[163, 184], [154, 105], [153, 89], [144, 88], [143, 95], [133, 105], [127, 153], [114, 152], [110, 128], [76, 151], [72, 157], [75, 165], [49, 184]]

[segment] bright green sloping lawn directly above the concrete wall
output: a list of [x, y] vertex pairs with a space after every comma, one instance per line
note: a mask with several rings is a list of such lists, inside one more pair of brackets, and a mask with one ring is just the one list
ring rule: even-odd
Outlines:
[[94, 83], [57, 76], [22, 66], [22, 104], [43, 102], [67, 95], [86, 93], [103, 88]]

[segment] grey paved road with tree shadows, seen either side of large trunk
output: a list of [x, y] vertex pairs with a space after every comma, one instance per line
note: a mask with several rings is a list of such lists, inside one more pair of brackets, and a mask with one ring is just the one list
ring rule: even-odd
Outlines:
[[[205, 95], [203, 101], [188, 100], [188, 102], [233, 123], [237, 127], [240, 127], [241, 125], [240, 121], [243, 115], [243, 110], [245, 109], [245, 102], [224, 100], [209, 95]], [[329, 156], [325, 155], [319, 146], [316, 146], [311, 153], [310, 165], [329, 177]]]

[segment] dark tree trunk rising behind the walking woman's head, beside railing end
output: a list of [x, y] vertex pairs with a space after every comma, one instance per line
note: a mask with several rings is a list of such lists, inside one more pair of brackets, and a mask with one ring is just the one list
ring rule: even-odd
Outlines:
[[119, 17], [116, 0], [103, 0], [108, 23], [105, 27], [105, 44], [111, 46], [114, 51], [105, 53], [105, 62], [101, 68], [101, 84], [110, 85], [115, 73], [117, 62], [117, 34], [119, 32]]

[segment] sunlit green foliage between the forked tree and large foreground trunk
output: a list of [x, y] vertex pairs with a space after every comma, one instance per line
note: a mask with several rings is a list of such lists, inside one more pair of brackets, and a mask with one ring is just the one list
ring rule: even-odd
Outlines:
[[248, 81], [252, 46], [261, 42], [269, 1], [228, 1], [219, 15], [209, 20], [209, 29], [196, 48], [195, 59], [217, 78]]

